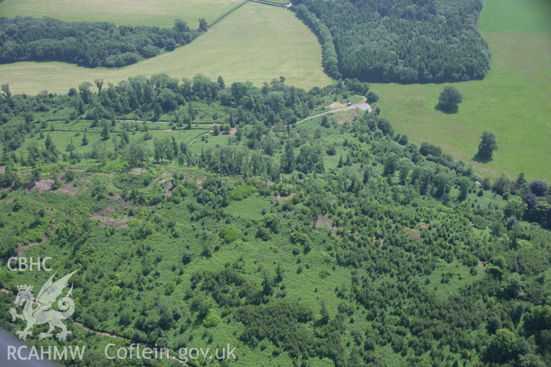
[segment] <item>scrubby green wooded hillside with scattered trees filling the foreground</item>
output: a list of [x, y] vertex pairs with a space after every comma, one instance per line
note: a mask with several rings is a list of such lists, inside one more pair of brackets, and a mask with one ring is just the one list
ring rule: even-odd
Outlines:
[[[551, 363], [548, 185], [491, 183], [376, 113], [294, 124], [364, 83], [304, 91], [283, 77], [258, 88], [161, 74], [64, 95], [2, 90], [0, 256], [42, 241], [28, 254], [56, 249], [67, 270], [83, 266], [73, 317], [87, 327], [174, 353], [235, 338], [243, 360], [296, 366]], [[197, 106], [217, 125], [191, 144], [171, 138], [193, 132]], [[169, 124], [152, 139], [155, 123], [117, 121], [130, 116]], [[100, 140], [79, 154], [87, 134]], [[148, 172], [130, 178], [132, 165]], [[35, 275], [0, 280], [17, 291]], [[290, 295], [305, 280], [315, 289]], [[104, 339], [88, 341], [97, 354], [75, 364], [102, 365]]]

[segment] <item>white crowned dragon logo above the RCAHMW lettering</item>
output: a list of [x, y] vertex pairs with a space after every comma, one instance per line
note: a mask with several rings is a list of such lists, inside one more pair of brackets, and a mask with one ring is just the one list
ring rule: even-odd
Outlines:
[[[68, 287], [69, 278], [78, 270], [73, 271], [72, 273], [64, 276], [57, 282], [53, 283], [53, 277], [56, 275], [57, 271], [48, 279], [48, 281], [42, 286], [38, 297], [34, 299], [34, 294], [31, 292], [33, 286], [17, 286], [19, 293], [13, 303], [15, 307], [9, 309], [9, 313], [12, 314], [12, 321], [15, 319], [22, 319], [27, 321], [27, 326], [23, 331], [16, 331], [15, 334], [19, 335], [19, 339], [26, 340], [28, 335], [33, 335], [33, 332], [29, 331], [33, 325], [45, 324], [46, 322], [50, 325], [50, 330], [47, 332], [41, 332], [39, 334], [39, 339], [44, 339], [45, 337], [53, 337], [52, 331], [55, 326], [61, 328], [61, 332], [56, 336], [58, 339], [63, 341], [66, 340], [67, 335], [72, 334], [73, 332], [67, 330], [67, 325], [63, 324], [61, 320], [71, 317], [74, 312], [74, 302], [69, 297], [73, 291], [73, 284], [71, 283], [71, 289], [65, 294], [64, 297], [60, 298], [57, 302], [57, 306], [62, 311], [53, 310], [52, 304], [56, 301], [58, 295], [63, 293], [63, 288]], [[23, 314], [18, 314], [16, 308], [23, 305]], [[33, 308], [33, 305], [36, 304], [36, 308]]]

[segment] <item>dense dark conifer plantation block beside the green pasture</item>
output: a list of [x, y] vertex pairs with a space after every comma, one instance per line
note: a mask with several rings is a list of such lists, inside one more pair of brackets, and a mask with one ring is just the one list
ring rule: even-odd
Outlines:
[[[484, 78], [490, 69], [488, 45], [475, 29], [479, 0], [298, 0], [293, 5], [323, 45], [329, 40], [326, 30], [331, 32], [345, 78], [470, 80]], [[329, 48], [324, 46], [324, 53]]]

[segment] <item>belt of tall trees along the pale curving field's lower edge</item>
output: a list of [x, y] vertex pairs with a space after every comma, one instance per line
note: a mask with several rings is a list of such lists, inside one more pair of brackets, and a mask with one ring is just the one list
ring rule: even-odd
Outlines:
[[[84, 82], [78, 90], [71, 88], [65, 95], [39, 94], [36, 96], [12, 95], [9, 85], [2, 86], [3, 98], [0, 101], [0, 124], [10, 120], [18, 121], [1, 130], [0, 141], [6, 152], [17, 150], [25, 140], [25, 134], [35, 130], [41, 112], [56, 108], [69, 108], [69, 120], [88, 119], [93, 125], [104, 126], [101, 119], [123, 118], [132, 113], [144, 120], [158, 120], [161, 114], [168, 114], [177, 127], [187, 125], [197, 118], [195, 101], [219, 102], [230, 114], [227, 123], [230, 127], [243, 123], [255, 124], [258, 121], [266, 126], [292, 124], [309, 116], [310, 110], [321, 105], [323, 96], [335, 92], [353, 91], [365, 93], [369, 87], [358, 80], [346, 80], [323, 89], [315, 87], [309, 92], [289, 86], [280, 76], [262, 87], [250, 82], [235, 82], [231, 86], [224, 83], [222, 76], [213, 81], [202, 74], [193, 79], [171, 78], [166, 74], [151, 78], [135, 76], [117, 85], [102, 86], [98, 80], [98, 92], [93, 92], [91, 83]], [[105, 127], [105, 134], [110, 127]], [[257, 135], [256, 142], [260, 140]], [[251, 140], [250, 144], [257, 144]]]

